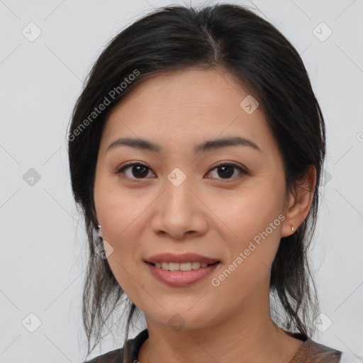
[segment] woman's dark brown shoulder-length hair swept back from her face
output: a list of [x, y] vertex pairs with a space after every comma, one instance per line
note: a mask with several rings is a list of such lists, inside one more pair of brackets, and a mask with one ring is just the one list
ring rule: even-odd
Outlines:
[[[308, 249], [318, 214], [325, 125], [301, 57], [277, 28], [245, 6], [164, 6], [132, 23], [106, 45], [72, 112], [67, 135], [70, 177], [89, 242], [82, 299], [88, 354], [100, 341], [102, 328], [124, 296], [107, 259], [96, 253], [101, 240], [96, 234], [94, 178], [108, 115], [149, 77], [167, 71], [220, 67], [259, 102], [283, 157], [286, 196], [296, 190], [311, 166], [316, 169], [310, 211], [294, 234], [281, 238], [269, 289], [283, 308], [281, 327], [298, 330], [304, 340], [315, 331], [311, 318], [318, 311], [318, 299]], [[123, 82], [126, 79], [130, 80], [127, 84]], [[96, 113], [95, 108], [101, 104], [107, 106]], [[125, 342], [136, 308], [129, 299], [128, 303]], [[90, 350], [92, 337], [96, 341]]]

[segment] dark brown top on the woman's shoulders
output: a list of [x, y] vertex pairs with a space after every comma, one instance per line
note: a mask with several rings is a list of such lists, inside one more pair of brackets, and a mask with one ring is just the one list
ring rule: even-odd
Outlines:
[[[303, 344], [296, 352], [294, 358], [289, 363], [339, 363], [342, 352], [340, 350], [334, 350], [333, 348], [326, 347], [317, 342], [314, 342], [310, 338], [303, 340], [301, 333], [291, 333], [284, 330], [287, 334], [302, 340]], [[133, 339], [129, 339], [127, 345], [130, 352], [130, 362], [138, 362], [138, 352], [143, 342], [147, 340], [149, 333], [147, 329], [140, 332]], [[86, 361], [84, 363], [123, 363], [123, 348], [111, 350], [111, 352], [101, 354], [94, 359]], [[286, 362], [287, 363], [287, 362]]]

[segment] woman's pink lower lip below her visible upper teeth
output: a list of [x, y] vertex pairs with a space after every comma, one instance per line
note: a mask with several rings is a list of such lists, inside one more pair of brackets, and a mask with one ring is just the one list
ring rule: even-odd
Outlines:
[[211, 264], [207, 267], [201, 267], [199, 269], [191, 269], [190, 271], [169, 271], [167, 269], [160, 269], [155, 267], [149, 262], [145, 262], [150, 269], [150, 272], [158, 280], [164, 282], [169, 286], [189, 286], [204, 279], [210, 275], [214, 269], [220, 264]]

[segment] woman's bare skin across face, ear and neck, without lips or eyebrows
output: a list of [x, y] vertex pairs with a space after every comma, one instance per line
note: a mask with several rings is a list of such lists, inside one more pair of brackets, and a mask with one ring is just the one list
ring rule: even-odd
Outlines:
[[[249, 94], [225, 69], [165, 72], [136, 86], [106, 122], [94, 201], [103, 238], [113, 247], [108, 256], [113, 274], [145, 313], [149, 339], [140, 363], [281, 363], [301, 347], [301, 340], [272, 321], [269, 280], [280, 239], [308, 216], [315, 168], [286, 200], [283, 161], [264, 114], [260, 108], [248, 114], [240, 106]], [[249, 138], [261, 151], [237, 145], [194, 152], [196, 144], [229, 135]], [[162, 152], [125, 145], [106, 152], [121, 137], [151, 140]], [[149, 169], [142, 177], [135, 167], [116, 174], [126, 162]], [[223, 162], [247, 168], [248, 174], [231, 169], [223, 179], [216, 168]], [[179, 186], [167, 179], [175, 167], [186, 175]], [[211, 279], [279, 215], [284, 221], [225, 281], [212, 286]], [[221, 263], [194, 285], [170, 287], [143, 262], [161, 252], [196, 252]], [[181, 316], [181, 330], [169, 324], [174, 314]]]

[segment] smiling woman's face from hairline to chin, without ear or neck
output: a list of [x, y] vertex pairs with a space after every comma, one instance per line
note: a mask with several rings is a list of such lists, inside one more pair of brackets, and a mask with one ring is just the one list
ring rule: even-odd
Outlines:
[[[136, 86], [106, 122], [96, 214], [113, 274], [149, 321], [208, 327], [268, 296], [284, 236], [284, 165], [260, 108], [240, 106], [247, 96], [223, 69], [168, 72]], [[237, 137], [249, 141], [223, 142]], [[108, 149], [120, 138], [150, 144]], [[152, 259], [164, 253], [176, 259]], [[203, 257], [217, 263], [187, 263]], [[157, 259], [192, 270], [148, 263]]]

